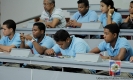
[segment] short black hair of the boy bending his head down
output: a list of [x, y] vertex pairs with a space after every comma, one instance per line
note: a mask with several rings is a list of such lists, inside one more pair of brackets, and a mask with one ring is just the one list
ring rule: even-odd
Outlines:
[[66, 41], [67, 38], [70, 38], [70, 35], [69, 33], [66, 31], [66, 30], [58, 30], [55, 34], [54, 34], [54, 40], [56, 42], [59, 42], [59, 41]]

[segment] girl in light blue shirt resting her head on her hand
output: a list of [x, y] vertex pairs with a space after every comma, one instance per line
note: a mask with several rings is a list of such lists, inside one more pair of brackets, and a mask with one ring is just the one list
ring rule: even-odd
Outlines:
[[102, 14], [98, 20], [104, 27], [108, 24], [120, 25], [122, 23], [121, 14], [116, 12], [114, 2], [112, 0], [101, 0], [100, 5]]

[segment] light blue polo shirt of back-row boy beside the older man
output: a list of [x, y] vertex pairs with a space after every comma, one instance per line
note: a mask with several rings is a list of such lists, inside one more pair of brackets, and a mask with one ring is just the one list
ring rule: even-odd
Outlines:
[[98, 16], [95, 11], [88, 10], [88, 12], [84, 16], [82, 16], [79, 12], [76, 12], [72, 16], [71, 20], [76, 20], [79, 23], [86, 23], [91, 21], [96, 22], [98, 20]]

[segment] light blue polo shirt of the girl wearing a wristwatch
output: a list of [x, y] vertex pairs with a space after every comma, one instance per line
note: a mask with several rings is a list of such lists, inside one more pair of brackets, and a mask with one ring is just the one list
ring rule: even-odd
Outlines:
[[[107, 16], [106, 13], [102, 13], [99, 16], [98, 21], [102, 23], [102, 25], [105, 27], [107, 25]], [[112, 15], [112, 21], [115, 22], [117, 25], [120, 25], [122, 23], [122, 16], [118, 12], [114, 12]]]

